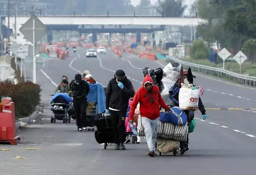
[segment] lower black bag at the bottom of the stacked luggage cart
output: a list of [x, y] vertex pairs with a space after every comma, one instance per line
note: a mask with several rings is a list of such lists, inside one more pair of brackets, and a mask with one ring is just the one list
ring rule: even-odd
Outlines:
[[101, 132], [95, 131], [95, 139], [99, 144], [115, 143], [113, 128], [102, 130]]

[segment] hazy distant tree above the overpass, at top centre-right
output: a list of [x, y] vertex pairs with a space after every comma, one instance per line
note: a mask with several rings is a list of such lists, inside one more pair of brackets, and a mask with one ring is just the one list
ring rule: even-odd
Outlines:
[[186, 5], [183, 0], [158, 0], [155, 6], [156, 10], [165, 17], [181, 17]]

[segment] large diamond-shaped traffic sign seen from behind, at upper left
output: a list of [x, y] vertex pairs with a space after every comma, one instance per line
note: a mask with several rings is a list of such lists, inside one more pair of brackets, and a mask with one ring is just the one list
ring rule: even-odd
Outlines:
[[[34, 29], [33, 21], [35, 25]], [[33, 30], [35, 31], [35, 43], [47, 34], [46, 26], [35, 15], [31, 15], [31, 18], [29, 18], [29, 20], [25, 22], [19, 30], [31, 43], [33, 43]]]

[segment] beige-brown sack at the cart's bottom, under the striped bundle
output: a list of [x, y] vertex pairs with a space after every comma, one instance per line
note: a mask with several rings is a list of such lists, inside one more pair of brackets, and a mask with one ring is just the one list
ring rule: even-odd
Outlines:
[[169, 140], [169, 139], [156, 139], [157, 148], [163, 154], [171, 153], [180, 148], [180, 141], [177, 140]]

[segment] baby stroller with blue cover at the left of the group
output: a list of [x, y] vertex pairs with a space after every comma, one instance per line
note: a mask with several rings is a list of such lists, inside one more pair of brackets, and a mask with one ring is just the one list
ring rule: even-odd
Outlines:
[[53, 116], [50, 123], [56, 123], [57, 120], [62, 120], [63, 123], [70, 123], [71, 116], [68, 114], [70, 109], [73, 109], [72, 98], [66, 93], [56, 93], [51, 100], [51, 110]]

